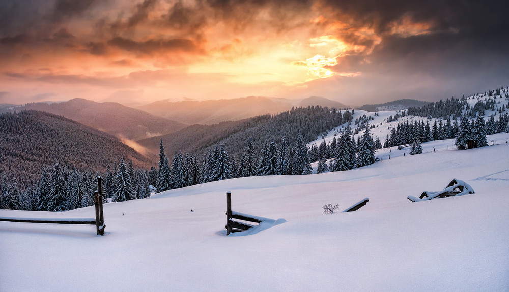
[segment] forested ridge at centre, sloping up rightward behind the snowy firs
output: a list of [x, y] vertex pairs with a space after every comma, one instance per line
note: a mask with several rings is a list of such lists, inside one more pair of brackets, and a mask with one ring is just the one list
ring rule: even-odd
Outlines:
[[[347, 115], [348, 116], [348, 115]], [[206, 154], [215, 144], [224, 144], [234, 158], [242, 154], [248, 138], [253, 139], [254, 148], [259, 151], [264, 142], [274, 138], [276, 142], [286, 137], [293, 144], [301, 134], [303, 140], [315, 140], [343, 122], [341, 111], [327, 107], [309, 106], [282, 112], [278, 115], [262, 115], [237, 122], [223, 122], [216, 125], [193, 125], [181, 131], [138, 141], [139, 144], [157, 153], [163, 140], [167, 153], [192, 153], [198, 157]]]

